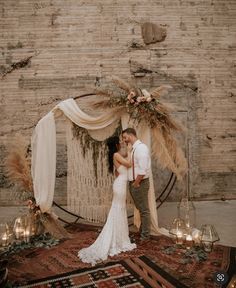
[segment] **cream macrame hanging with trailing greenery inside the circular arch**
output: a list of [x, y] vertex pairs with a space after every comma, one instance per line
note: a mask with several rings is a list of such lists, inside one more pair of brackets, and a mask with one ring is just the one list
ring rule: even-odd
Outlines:
[[[111, 207], [114, 181], [108, 172], [106, 139], [120, 135], [121, 124], [94, 133], [68, 121], [66, 131], [68, 209], [88, 221], [103, 223]], [[132, 209], [130, 197], [127, 206]]]

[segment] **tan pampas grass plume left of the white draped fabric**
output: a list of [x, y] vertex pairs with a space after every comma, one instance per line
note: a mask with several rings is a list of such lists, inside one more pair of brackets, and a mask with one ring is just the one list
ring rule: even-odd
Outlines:
[[6, 175], [22, 190], [33, 192], [33, 183], [30, 170], [30, 159], [27, 157], [27, 145], [22, 137], [17, 137], [5, 159]]

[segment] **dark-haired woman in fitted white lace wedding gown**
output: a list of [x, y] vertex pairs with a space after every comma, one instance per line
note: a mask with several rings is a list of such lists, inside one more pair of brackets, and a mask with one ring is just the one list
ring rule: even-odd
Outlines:
[[117, 176], [113, 183], [113, 200], [106, 224], [96, 241], [89, 247], [78, 252], [78, 257], [85, 263], [95, 265], [108, 256], [114, 256], [124, 251], [136, 248], [129, 239], [128, 220], [126, 212], [127, 168], [131, 167], [130, 151], [125, 159], [121, 155], [119, 137], [107, 140], [109, 172]]

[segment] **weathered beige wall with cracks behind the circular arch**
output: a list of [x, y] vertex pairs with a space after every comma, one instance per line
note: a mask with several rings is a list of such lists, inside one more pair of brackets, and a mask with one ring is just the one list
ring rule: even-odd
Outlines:
[[[56, 103], [112, 74], [133, 77], [145, 88], [173, 86], [166, 100], [188, 127], [182, 143], [189, 177], [169, 199], [179, 199], [187, 185], [195, 199], [235, 198], [235, 1], [0, 0], [0, 13], [0, 205], [17, 204], [3, 172], [15, 134], [29, 140]], [[145, 22], [164, 28], [166, 38], [145, 44]], [[61, 127], [56, 199], [65, 204]], [[154, 174], [161, 191], [169, 172]]]

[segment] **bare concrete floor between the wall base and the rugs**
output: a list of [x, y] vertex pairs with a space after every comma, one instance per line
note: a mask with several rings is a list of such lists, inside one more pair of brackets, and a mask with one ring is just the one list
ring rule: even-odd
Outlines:
[[[199, 201], [196, 207], [197, 228], [202, 224], [213, 224], [220, 236], [218, 243], [236, 247], [236, 200], [230, 201]], [[0, 207], [0, 223], [10, 222], [14, 217], [26, 213], [26, 207]], [[55, 209], [58, 216], [67, 217]], [[166, 202], [158, 209], [159, 227], [169, 229], [177, 217], [177, 203]], [[71, 219], [73, 220], [73, 219]]]

